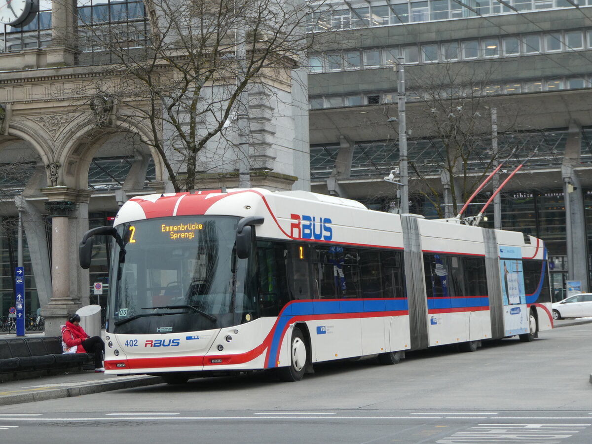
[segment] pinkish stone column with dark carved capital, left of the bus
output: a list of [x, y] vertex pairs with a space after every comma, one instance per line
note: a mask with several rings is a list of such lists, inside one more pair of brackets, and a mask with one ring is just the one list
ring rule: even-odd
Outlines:
[[88, 304], [88, 270], [78, 264], [78, 243], [88, 230], [87, 190], [54, 186], [42, 189], [48, 195], [46, 210], [52, 217], [52, 298], [41, 310], [46, 336], [60, 336], [67, 316]]

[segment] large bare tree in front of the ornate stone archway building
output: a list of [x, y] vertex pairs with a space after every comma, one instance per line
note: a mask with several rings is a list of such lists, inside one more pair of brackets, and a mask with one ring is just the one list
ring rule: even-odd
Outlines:
[[130, 32], [129, 24], [81, 27], [86, 44], [114, 62], [105, 82], [110, 94], [96, 94], [91, 107], [105, 125], [117, 102], [133, 110], [124, 118], [149, 126], [175, 191], [193, 189], [203, 165], [228, 162], [224, 150], [244, 144], [247, 93], [289, 90], [311, 44], [304, 26], [310, 9], [300, 0], [144, 5], [147, 33], [141, 26]]

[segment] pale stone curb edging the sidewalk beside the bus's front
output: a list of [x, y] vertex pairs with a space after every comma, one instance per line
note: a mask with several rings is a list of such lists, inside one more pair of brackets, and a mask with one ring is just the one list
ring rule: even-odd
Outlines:
[[121, 390], [123, 388], [144, 387], [146, 385], [162, 384], [161, 377], [141, 377], [136, 379], [127, 379], [126, 381], [110, 381], [99, 384], [87, 384], [79, 387], [63, 387], [52, 390], [36, 391], [23, 394], [0, 396], [0, 406], [10, 406], [12, 404], [33, 403], [35, 401], [47, 401], [59, 398], [69, 398], [73, 396], [89, 395], [105, 391]]

